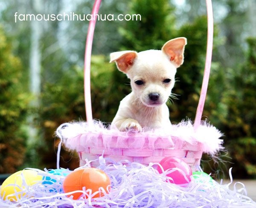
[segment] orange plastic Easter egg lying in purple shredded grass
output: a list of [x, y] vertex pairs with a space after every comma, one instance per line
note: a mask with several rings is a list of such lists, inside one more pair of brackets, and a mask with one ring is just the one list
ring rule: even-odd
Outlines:
[[[85, 187], [85, 190], [91, 189], [93, 194], [94, 192], [99, 191], [99, 188], [102, 187], [108, 193], [109, 190], [107, 187], [110, 184], [110, 179], [105, 172], [96, 168], [83, 168], [73, 171], [65, 178], [63, 182], [63, 190], [65, 193], [68, 193], [71, 191], [82, 191], [83, 187]], [[75, 193], [68, 197], [73, 196], [73, 199], [79, 199], [81, 195], [81, 193]], [[93, 196], [93, 198], [102, 196], [104, 196], [104, 194], [99, 193]]]

